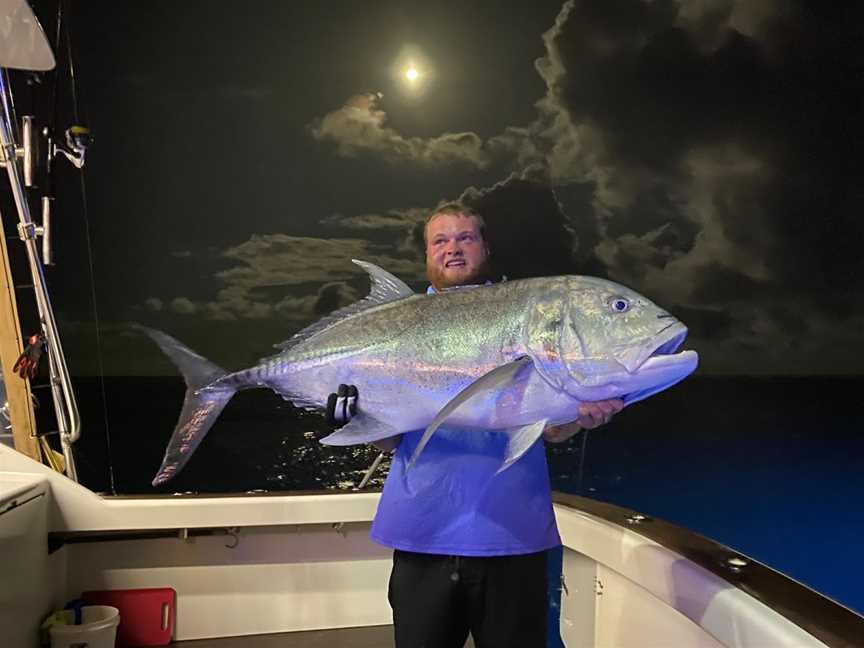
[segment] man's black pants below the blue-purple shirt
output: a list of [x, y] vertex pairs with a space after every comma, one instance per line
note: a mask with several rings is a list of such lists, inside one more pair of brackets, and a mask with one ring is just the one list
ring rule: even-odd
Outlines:
[[396, 648], [545, 648], [546, 552], [473, 558], [393, 552]]

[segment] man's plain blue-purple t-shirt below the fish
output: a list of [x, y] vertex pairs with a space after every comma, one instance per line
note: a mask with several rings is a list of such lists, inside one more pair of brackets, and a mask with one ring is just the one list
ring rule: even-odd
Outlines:
[[373, 540], [457, 556], [518, 555], [561, 544], [542, 439], [496, 475], [507, 445], [502, 432], [441, 427], [406, 474], [422, 434], [402, 435], [372, 522]]

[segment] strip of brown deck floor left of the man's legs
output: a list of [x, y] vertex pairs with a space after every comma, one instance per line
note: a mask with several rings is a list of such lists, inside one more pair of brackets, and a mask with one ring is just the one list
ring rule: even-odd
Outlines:
[[[393, 648], [393, 626], [280, 632], [220, 639], [174, 641], [178, 648]], [[465, 648], [474, 648], [468, 637]]]

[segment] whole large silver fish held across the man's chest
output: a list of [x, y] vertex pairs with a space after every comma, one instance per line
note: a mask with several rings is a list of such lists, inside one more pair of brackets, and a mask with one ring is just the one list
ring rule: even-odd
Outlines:
[[153, 484], [188, 461], [241, 389], [267, 387], [323, 409], [339, 384], [359, 389], [360, 412], [322, 439], [369, 443], [425, 429], [413, 463], [442, 424], [508, 435], [503, 470], [547, 425], [571, 421], [583, 401], [630, 405], [689, 375], [687, 328], [638, 293], [604, 279], [561, 276], [418, 295], [363, 261], [372, 288], [278, 345], [278, 355], [228, 373], [177, 340], [147, 332], [183, 373], [183, 410]]

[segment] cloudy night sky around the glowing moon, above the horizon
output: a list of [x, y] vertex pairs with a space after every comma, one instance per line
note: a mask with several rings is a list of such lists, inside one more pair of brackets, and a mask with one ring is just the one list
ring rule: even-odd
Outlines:
[[[104, 370], [175, 374], [130, 322], [248, 366], [363, 296], [351, 258], [422, 289], [420, 224], [462, 198], [499, 272], [624, 283], [704, 374], [861, 374], [864, 9], [840, 4], [72, 3]], [[60, 175], [49, 281], [94, 374]]]

